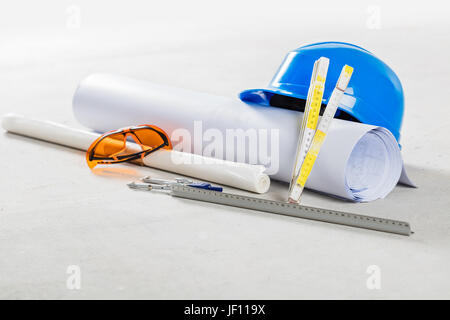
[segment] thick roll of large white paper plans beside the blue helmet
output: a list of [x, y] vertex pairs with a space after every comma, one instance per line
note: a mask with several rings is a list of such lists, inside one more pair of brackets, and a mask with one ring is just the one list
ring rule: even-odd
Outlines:
[[[94, 74], [78, 86], [75, 117], [99, 132], [152, 124], [175, 149], [262, 164], [289, 182], [302, 113], [127, 77]], [[402, 175], [394, 136], [385, 128], [333, 120], [306, 188], [352, 201], [385, 197]], [[404, 182], [408, 182], [403, 172]]]

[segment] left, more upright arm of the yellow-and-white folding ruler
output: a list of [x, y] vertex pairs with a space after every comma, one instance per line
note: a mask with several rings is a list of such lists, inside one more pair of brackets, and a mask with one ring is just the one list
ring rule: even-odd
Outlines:
[[309, 150], [314, 133], [316, 132], [329, 63], [330, 60], [325, 57], [321, 57], [314, 63], [308, 90], [308, 97], [306, 99], [300, 134], [297, 142], [297, 154], [292, 173], [292, 180], [289, 186], [289, 197], [291, 197], [293, 188], [296, 185], [296, 177], [300, 172], [303, 160], [306, 157], [306, 153]]

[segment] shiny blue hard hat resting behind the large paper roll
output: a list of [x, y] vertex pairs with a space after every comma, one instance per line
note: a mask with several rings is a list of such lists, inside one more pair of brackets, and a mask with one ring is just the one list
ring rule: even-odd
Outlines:
[[330, 59], [323, 104], [345, 64], [354, 69], [339, 104], [337, 118], [360, 121], [389, 129], [397, 141], [403, 118], [403, 89], [397, 75], [369, 51], [344, 42], [321, 42], [288, 53], [266, 89], [242, 91], [242, 101], [303, 111], [314, 62]]

